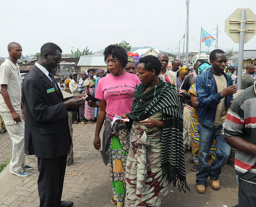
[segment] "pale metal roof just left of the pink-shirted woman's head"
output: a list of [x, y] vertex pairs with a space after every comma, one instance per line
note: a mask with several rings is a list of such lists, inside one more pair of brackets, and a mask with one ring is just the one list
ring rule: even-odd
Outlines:
[[77, 66], [106, 66], [104, 55], [82, 55]]

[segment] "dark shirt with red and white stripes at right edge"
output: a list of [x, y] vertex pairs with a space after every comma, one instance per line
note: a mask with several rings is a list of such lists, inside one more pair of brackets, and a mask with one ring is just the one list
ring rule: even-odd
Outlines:
[[[236, 97], [223, 127], [224, 137], [240, 136], [256, 144], [256, 83]], [[256, 155], [236, 150], [235, 170], [241, 180], [256, 184]]]

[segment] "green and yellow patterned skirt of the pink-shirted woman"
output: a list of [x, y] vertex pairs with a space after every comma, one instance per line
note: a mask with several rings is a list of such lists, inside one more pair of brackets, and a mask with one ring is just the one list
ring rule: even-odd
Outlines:
[[126, 197], [126, 160], [128, 146], [126, 129], [119, 130], [117, 136], [112, 136], [108, 145], [108, 167], [112, 185], [113, 198], [118, 207], [124, 206]]

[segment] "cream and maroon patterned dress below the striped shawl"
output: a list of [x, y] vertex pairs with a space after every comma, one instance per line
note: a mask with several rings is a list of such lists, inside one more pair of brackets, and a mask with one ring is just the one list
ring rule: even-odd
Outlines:
[[[161, 121], [162, 113], [149, 118]], [[148, 129], [133, 121], [126, 163], [126, 207], [162, 206], [169, 182], [161, 167], [161, 137], [161, 128]]]

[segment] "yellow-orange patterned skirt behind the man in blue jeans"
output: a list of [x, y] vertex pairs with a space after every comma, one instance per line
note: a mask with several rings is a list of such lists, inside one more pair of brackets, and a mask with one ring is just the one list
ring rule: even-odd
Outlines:
[[[198, 132], [198, 119], [197, 113], [195, 110], [191, 111], [190, 114], [190, 132], [192, 139], [192, 153], [194, 158], [194, 164], [198, 165], [198, 156], [199, 156], [199, 132]], [[216, 156], [216, 140], [214, 139], [212, 147], [209, 153], [209, 165], [215, 160]]]

